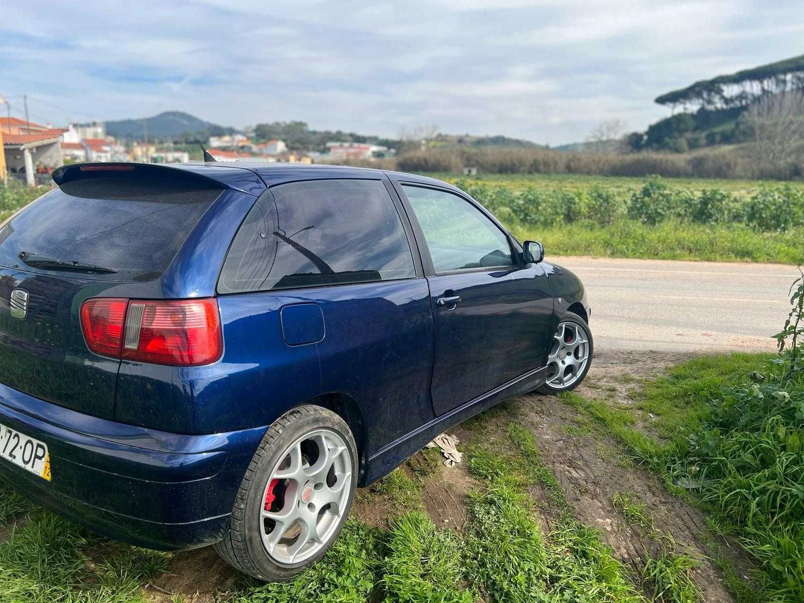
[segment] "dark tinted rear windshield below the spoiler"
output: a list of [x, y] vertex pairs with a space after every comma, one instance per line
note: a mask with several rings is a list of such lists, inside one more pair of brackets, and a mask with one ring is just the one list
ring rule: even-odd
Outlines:
[[[170, 265], [221, 189], [174, 178], [88, 178], [64, 183], [0, 230], [0, 265], [48, 272], [20, 252], [103, 266], [83, 275], [150, 281]], [[68, 272], [65, 272], [68, 274]]]

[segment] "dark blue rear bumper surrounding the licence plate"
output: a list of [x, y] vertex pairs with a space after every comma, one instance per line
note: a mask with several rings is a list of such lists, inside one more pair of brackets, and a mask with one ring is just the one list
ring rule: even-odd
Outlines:
[[146, 548], [202, 547], [222, 535], [266, 427], [185, 436], [27, 396], [0, 384], [0, 423], [47, 444], [51, 482], [0, 459], [0, 478], [90, 529]]

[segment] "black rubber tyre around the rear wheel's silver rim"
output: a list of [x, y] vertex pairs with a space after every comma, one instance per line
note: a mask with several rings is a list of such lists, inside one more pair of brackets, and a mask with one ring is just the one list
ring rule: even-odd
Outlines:
[[[343, 438], [347, 444], [347, 452], [351, 456], [351, 491], [345, 511], [326, 545], [314, 556], [298, 564], [280, 564], [269, 556], [261, 536], [263, 527], [260, 509], [264, 504], [265, 487], [273, 468], [281, 461], [281, 455], [294, 441], [314, 429], [325, 428], [331, 429]], [[320, 406], [293, 408], [277, 419], [262, 438], [246, 470], [243, 482], [240, 483], [224, 539], [214, 545], [215, 551], [233, 568], [257, 580], [280, 582], [293, 578], [321, 559], [338, 538], [355, 498], [358, 470], [355, 438], [341, 417]]]

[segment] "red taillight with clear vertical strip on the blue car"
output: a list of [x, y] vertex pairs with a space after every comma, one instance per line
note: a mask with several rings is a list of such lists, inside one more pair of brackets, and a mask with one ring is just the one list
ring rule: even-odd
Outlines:
[[[109, 330], [109, 346], [93, 347], [92, 311], [97, 304], [123, 304], [125, 322]], [[214, 363], [223, 351], [218, 302], [214, 298], [181, 301], [92, 299], [81, 306], [81, 326], [89, 349], [100, 355], [143, 363], [190, 367]], [[112, 343], [112, 335], [117, 339]]]

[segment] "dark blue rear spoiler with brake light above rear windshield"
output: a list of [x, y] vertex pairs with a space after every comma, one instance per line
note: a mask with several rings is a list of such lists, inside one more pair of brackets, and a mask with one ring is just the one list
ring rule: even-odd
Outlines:
[[256, 173], [236, 166], [206, 166], [204, 164], [164, 164], [164, 163], [72, 163], [53, 170], [53, 182], [61, 186], [75, 180], [88, 178], [175, 178], [207, 183], [213, 188], [229, 188], [249, 195], [259, 195], [265, 190]]

